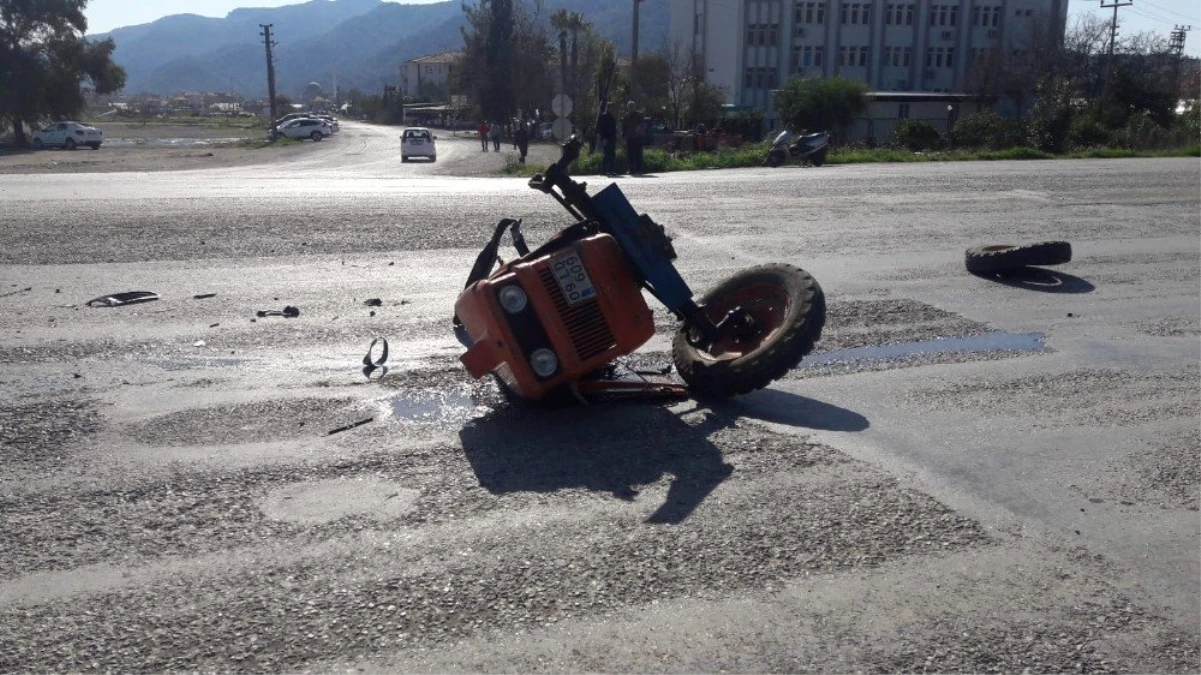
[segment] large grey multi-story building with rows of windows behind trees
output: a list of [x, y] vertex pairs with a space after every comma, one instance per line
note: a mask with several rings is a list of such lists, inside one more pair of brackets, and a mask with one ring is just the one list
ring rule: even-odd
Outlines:
[[1068, 0], [670, 0], [670, 40], [706, 79], [773, 121], [795, 76], [841, 76], [873, 91], [963, 92], [990, 50], [1062, 40]]

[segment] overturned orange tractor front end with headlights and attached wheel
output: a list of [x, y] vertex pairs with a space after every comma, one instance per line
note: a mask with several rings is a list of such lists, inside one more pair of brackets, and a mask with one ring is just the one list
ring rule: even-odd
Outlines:
[[[681, 322], [671, 348], [688, 387], [675, 384], [681, 393], [746, 394], [813, 350], [825, 295], [812, 275], [787, 264], [758, 265], [694, 300], [671, 263], [676, 252], [663, 226], [639, 215], [616, 184], [588, 195], [586, 184], [568, 175], [580, 147], [572, 137], [561, 159], [530, 180], [576, 222], [531, 251], [521, 221], [502, 220], [455, 303], [456, 334], [467, 347], [460, 360], [472, 376], [495, 374], [530, 400], [564, 390], [584, 400], [628, 392], [629, 381], [616, 381], [609, 366], [655, 334], [643, 291]], [[496, 268], [506, 232], [520, 257]], [[662, 382], [645, 388], [670, 390]]]

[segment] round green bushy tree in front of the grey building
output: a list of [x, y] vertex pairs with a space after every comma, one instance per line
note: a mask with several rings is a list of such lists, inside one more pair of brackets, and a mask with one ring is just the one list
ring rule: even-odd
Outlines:
[[842, 136], [866, 109], [867, 84], [841, 77], [794, 77], [776, 95], [776, 112], [796, 130], [830, 130]]

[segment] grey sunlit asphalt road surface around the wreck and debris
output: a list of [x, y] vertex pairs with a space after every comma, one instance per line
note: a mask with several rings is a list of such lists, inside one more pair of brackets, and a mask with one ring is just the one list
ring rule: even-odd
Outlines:
[[545, 411], [449, 316], [496, 220], [564, 214], [392, 136], [0, 175], [0, 670], [1201, 669], [1196, 160], [619, 179], [697, 291], [812, 271], [824, 336], [729, 402]]

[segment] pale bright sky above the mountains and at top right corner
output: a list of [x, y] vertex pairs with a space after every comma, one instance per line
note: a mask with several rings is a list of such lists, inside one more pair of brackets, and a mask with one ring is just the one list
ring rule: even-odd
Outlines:
[[[408, 5], [424, 5], [438, 0], [404, 0]], [[667, 2], [668, 0], [646, 0]], [[1107, 0], [1106, 4], [1112, 4]], [[1123, 0], [1124, 1], [1124, 0]], [[1201, 56], [1201, 0], [1133, 0], [1134, 6], [1118, 11], [1123, 32], [1153, 31], [1167, 35], [1176, 24], [1193, 25], [1187, 52]], [[90, 0], [88, 2], [89, 32], [107, 32], [123, 25], [153, 22], [168, 14], [201, 14], [223, 17], [237, 7], [277, 7], [295, 5], [297, 0]], [[1112, 17], [1113, 10], [1099, 8], [1100, 0], [1069, 0], [1069, 12], [1095, 12]]]

